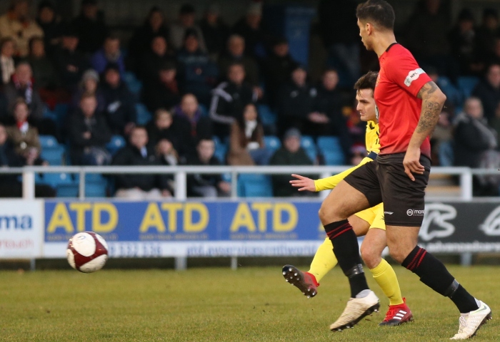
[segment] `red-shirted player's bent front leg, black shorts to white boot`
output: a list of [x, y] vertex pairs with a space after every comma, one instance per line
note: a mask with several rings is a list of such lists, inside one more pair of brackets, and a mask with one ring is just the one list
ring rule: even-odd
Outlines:
[[369, 162], [354, 170], [332, 190], [319, 210], [321, 223], [351, 287], [351, 299], [339, 319], [331, 324], [332, 331], [354, 326], [379, 309], [379, 299], [366, 284], [356, 234], [347, 219], [381, 202], [375, 167], [376, 162]]

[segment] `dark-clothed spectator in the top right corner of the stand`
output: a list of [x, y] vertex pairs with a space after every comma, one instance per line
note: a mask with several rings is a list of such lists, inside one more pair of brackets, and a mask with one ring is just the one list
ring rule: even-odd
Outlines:
[[499, 34], [499, 14], [495, 9], [484, 9], [481, 26], [476, 31], [476, 56], [483, 63], [488, 63], [491, 59], [494, 53], [495, 38]]

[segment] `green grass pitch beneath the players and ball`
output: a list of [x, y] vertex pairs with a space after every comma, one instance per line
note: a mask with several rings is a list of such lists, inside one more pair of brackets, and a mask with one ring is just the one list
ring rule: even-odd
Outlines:
[[[449, 341], [458, 311], [411, 272], [395, 266], [415, 321], [379, 327], [381, 313], [332, 333], [349, 289], [339, 269], [306, 299], [280, 267], [0, 272], [0, 341]], [[449, 266], [493, 311], [474, 341], [500, 341], [500, 268]], [[369, 274], [368, 274], [369, 275]]]

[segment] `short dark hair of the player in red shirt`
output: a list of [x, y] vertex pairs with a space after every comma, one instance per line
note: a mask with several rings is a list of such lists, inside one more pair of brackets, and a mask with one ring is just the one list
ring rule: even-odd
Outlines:
[[369, 22], [383, 28], [394, 30], [394, 9], [384, 0], [368, 0], [356, 9], [359, 21]]

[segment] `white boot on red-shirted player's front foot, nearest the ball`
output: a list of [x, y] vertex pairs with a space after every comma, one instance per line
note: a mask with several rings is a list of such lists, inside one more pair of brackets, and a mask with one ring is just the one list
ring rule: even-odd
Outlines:
[[369, 291], [367, 296], [349, 299], [346, 309], [344, 309], [339, 319], [331, 324], [331, 331], [342, 331], [346, 328], [352, 328], [365, 316], [372, 314], [374, 311], [379, 311], [379, 297], [375, 295], [374, 291], [364, 291]]

